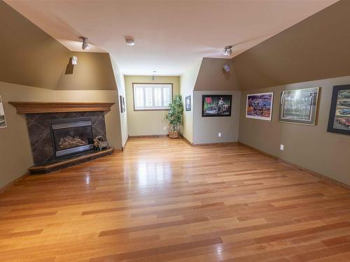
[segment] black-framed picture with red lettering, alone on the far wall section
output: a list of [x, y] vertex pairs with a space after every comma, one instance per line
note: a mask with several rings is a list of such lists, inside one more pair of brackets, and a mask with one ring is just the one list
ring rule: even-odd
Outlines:
[[202, 117], [230, 117], [232, 95], [204, 94], [202, 96]]

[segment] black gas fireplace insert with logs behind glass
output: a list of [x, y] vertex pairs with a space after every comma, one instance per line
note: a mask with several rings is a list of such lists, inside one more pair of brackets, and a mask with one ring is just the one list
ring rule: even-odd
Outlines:
[[94, 149], [91, 118], [52, 122], [51, 132], [55, 158]]

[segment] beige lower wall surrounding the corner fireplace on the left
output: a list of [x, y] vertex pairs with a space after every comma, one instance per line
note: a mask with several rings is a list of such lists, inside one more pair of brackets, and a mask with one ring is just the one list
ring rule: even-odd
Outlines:
[[0, 96], [8, 127], [0, 129], [0, 187], [27, 173], [33, 165], [27, 124], [24, 115], [18, 115], [8, 101], [101, 101], [116, 103], [106, 113], [107, 139], [111, 146], [122, 147], [118, 91], [102, 90], [50, 90], [0, 82]]

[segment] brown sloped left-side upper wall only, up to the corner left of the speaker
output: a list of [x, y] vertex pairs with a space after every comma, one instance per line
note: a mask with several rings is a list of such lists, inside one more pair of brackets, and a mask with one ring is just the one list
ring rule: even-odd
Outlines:
[[69, 50], [0, 1], [0, 81], [55, 89]]

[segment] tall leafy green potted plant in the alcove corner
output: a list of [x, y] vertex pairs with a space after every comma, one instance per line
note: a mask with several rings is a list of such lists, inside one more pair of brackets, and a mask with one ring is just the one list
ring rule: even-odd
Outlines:
[[169, 137], [179, 138], [179, 129], [182, 124], [183, 103], [181, 94], [174, 97], [172, 103], [169, 103], [169, 112], [165, 116], [169, 124]]

